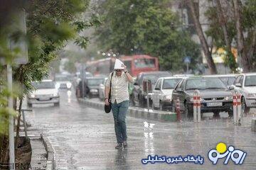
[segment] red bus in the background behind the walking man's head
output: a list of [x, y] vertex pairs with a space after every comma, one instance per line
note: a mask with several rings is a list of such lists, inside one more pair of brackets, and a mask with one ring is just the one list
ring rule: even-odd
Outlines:
[[[86, 71], [94, 75], [110, 74], [114, 68], [115, 57], [108, 57], [106, 59], [95, 60], [86, 63]], [[154, 72], [159, 71], [159, 62], [157, 57], [149, 55], [132, 55], [122, 56], [119, 60], [124, 62], [133, 77], [137, 77], [140, 72]]]

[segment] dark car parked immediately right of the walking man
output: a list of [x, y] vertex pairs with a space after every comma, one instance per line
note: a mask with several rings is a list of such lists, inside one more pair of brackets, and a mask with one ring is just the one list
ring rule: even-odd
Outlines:
[[[151, 81], [151, 88], [154, 89], [157, 79], [159, 77], [170, 77], [170, 72], [141, 72], [138, 74], [136, 81], [134, 81], [134, 89], [132, 91], [132, 103], [134, 106], [146, 106], [147, 94], [144, 92], [143, 82]], [[151, 93], [152, 91], [149, 91]], [[150, 100], [151, 101], [151, 100]]]

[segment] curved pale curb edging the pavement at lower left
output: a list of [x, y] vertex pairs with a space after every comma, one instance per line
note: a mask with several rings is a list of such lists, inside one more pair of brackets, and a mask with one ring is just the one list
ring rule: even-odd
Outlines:
[[54, 152], [53, 152], [53, 147], [50, 145], [50, 141], [48, 137], [45, 137], [43, 134], [41, 134], [41, 139], [43, 140], [43, 145], [46, 148], [47, 152], [47, 162], [46, 162], [46, 170], [54, 170]]

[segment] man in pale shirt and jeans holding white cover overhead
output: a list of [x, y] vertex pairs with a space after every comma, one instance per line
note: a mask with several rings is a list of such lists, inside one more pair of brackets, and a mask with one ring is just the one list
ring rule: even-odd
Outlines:
[[110, 73], [105, 84], [105, 105], [109, 105], [111, 81], [112, 113], [114, 117], [114, 131], [117, 137], [116, 149], [127, 147], [126, 114], [129, 107], [128, 83], [132, 82], [132, 76], [127, 72], [127, 67], [120, 60], [114, 63], [114, 72]]

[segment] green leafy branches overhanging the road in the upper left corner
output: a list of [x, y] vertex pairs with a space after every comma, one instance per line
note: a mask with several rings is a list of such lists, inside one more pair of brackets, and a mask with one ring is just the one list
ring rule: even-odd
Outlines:
[[[19, 2], [19, 3], [18, 3]], [[86, 47], [88, 39], [82, 36], [82, 31], [97, 25], [97, 17], [93, 16], [85, 20], [83, 13], [87, 10], [90, 0], [63, 0], [63, 1], [31, 1], [23, 4], [24, 1], [4, 0], [4, 8], [1, 11], [0, 25], [0, 56], [6, 62], [13, 64], [14, 58], [19, 50], [10, 50], [8, 40], [18, 40], [23, 38], [28, 46], [28, 63], [14, 66], [14, 81], [20, 86], [21, 93], [10, 94], [6, 91], [6, 79], [4, 79], [5, 67], [0, 64], [0, 144], [1, 158], [6, 157], [8, 132], [8, 115], [14, 113], [6, 108], [6, 96], [17, 97], [22, 103], [23, 95], [28, 94], [33, 89], [32, 81], [41, 81], [46, 77], [49, 64], [58, 54], [58, 51], [65, 46], [68, 40], [73, 40], [80, 47]], [[13, 13], [19, 8], [26, 10], [26, 35], [10, 27], [14, 21]], [[18, 89], [17, 89], [18, 90]], [[16, 101], [16, 100], [15, 100]], [[16, 104], [14, 105], [16, 109]], [[6, 159], [1, 159], [7, 162]]]

